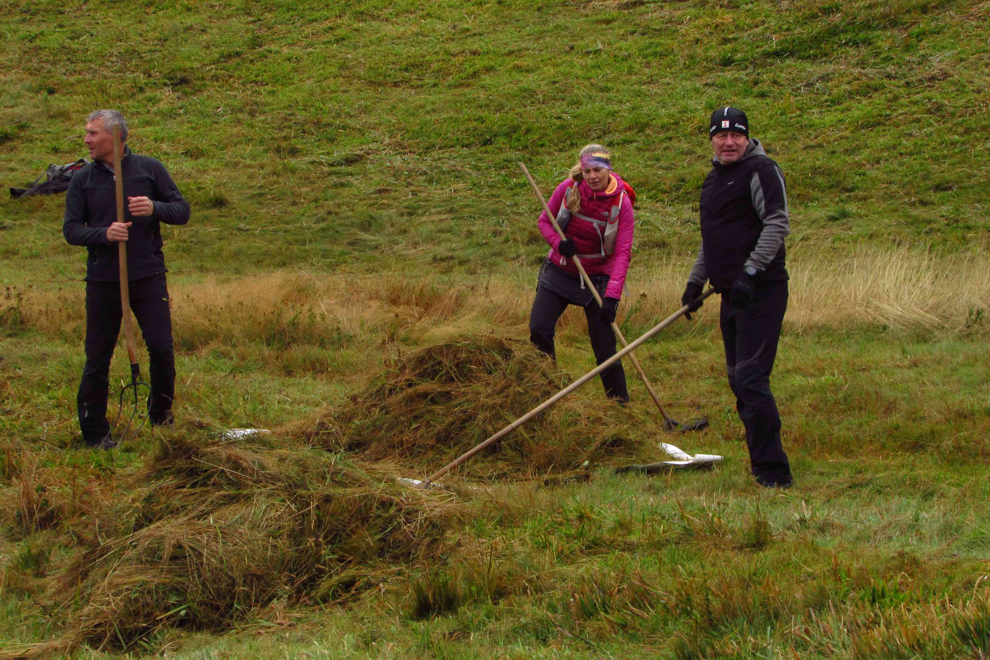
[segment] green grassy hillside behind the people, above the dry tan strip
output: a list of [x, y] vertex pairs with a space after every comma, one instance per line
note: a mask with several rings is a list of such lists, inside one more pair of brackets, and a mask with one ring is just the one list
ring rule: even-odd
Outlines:
[[[122, 108], [196, 206], [184, 273], [534, 258], [515, 162], [549, 187], [592, 139], [643, 193], [640, 244], [679, 247], [726, 102], [784, 164], [796, 236], [985, 230], [985, 4], [30, 7], [5, 20], [0, 176], [79, 156], [80, 115]], [[3, 204], [6, 255], [77, 272], [22, 234], [57, 203]]]

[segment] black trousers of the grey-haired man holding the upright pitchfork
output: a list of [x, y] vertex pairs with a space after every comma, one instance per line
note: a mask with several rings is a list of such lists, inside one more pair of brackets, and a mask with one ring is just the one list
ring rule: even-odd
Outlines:
[[[148, 344], [151, 386], [148, 418], [151, 424], [164, 424], [171, 419], [175, 394], [172, 320], [164, 273], [129, 282], [129, 293], [131, 309]], [[76, 405], [79, 427], [87, 444], [99, 442], [110, 432], [107, 420], [110, 359], [120, 333], [121, 318], [120, 283], [86, 282], [86, 366]]]

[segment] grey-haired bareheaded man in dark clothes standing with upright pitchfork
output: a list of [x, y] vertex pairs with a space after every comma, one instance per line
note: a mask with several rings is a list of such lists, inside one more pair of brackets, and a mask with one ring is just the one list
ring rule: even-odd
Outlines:
[[[121, 172], [126, 208], [117, 220], [113, 170], [113, 135], [121, 132]], [[185, 225], [189, 204], [172, 182], [164, 165], [131, 152], [128, 126], [114, 110], [97, 110], [86, 121], [86, 146], [93, 162], [72, 177], [65, 195], [62, 234], [71, 245], [85, 245], [86, 260], [86, 366], [76, 404], [82, 437], [91, 447], [116, 445], [107, 420], [110, 358], [121, 327], [120, 261], [117, 243], [127, 241], [131, 309], [148, 344], [151, 424], [172, 423], [175, 357], [172, 322], [165, 286], [165, 258], [159, 223]]]

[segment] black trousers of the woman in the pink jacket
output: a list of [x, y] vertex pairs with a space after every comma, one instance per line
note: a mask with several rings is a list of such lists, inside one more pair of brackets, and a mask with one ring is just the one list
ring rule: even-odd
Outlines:
[[[552, 359], [556, 360], [556, 350], [553, 347], [553, 334], [556, 330], [557, 319], [567, 309], [570, 303], [546, 287], [537, 289], [537, 298], [533, 301], [533, 311], [530, 313], [530, 341]], [[591, 348], [595, 351], [598, 364], [616, 354], [616, 335], [612, 327], [602, 323], [599, 318], [598, 303], [594, 300], [582, 308], [588, 319], [588, 335], [591, 337]], [[622, 368], [622, 360], [616, 362], [601, 374], [605, 396], [617, 399], [623, 403], [629, 401], [629, 391], [626, 389], [626, 372]]]

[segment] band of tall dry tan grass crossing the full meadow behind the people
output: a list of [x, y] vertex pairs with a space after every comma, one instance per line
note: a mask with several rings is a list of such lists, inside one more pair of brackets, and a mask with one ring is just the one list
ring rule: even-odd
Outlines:
[[[681, 258], [634, 263], [632, 295], [620, 319], [633, 304], [641, 325], [675, 311], [687, 268]], [[941, 253], [864, 245], [851, 251], [803, 249], [798, 243], [789, 270], [785, 323], [792, 331], [867, 326], [945, 335], [990, 328], [990, 258], [979, 246]], [[520, 267], [449, 281], [402, 273], [317, 277], [291, 271], [196, 283], [173, 278], [174, 334], [186, 350], [260, 343], [283, 352], [304, 345], [346, 347], [369, 336], [412, 338], [420, 345], [492, 328], [525, 336], [535, 278], [535, 269]], [[20, 293], [26, 327], [81, 337], [83, 308], [76, 289]], [[715, 318], [713, 303], [701, 321]], [[569, 310], [559, 331], [583, 334], [583, 315]]]

